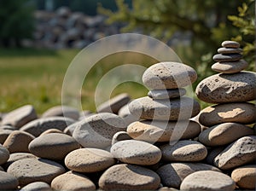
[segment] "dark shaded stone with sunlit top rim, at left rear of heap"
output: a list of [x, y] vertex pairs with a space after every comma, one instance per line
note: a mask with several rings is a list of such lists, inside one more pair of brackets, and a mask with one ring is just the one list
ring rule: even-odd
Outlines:
[[25, 124], [20, 128], [29, 132], [33, 136], [40, 136], [45, 130], [49, 129], [58, 129], [64, 130], [69, 124], [73, 124], [75, 121], [73, 119], [64, 118], [64, 117], [48, 117], [42, 119], [36, 119], [28, 124]]

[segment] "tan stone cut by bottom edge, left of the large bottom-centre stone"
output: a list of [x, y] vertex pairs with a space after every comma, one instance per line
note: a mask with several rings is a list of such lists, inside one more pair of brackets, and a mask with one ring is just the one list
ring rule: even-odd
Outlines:
[[74, 171], [68, 171], [51, 182], [54, 190], [96, 190], [96, 186], [88, 177]]

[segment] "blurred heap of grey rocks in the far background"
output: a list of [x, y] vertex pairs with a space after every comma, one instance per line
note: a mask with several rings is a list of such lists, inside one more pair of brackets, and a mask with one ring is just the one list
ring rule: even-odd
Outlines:
[[[82, 49], [100, 38], [119, 33], [120, 25], [108, 26], [103, 15], [89, 16], [61, 7], [55, 12], [36, 11], [34, 40], [25, 42], [39, 48]], [[26, 45], [26, 44], [25, 44]]]

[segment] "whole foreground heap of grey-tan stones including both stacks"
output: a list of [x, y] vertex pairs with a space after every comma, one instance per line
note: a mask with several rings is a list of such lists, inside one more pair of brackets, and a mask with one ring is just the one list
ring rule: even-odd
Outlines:
[[[0, 189], [254, 189], [255, 136], [245, 124], [255, 120], [255, 106], [247, 102], [255, 96], [255, 73], [222, 72], [202, 81], [197, 95], [218, 105], [201, 113], [199, 103], [185, 96], [184, 87], [196, 78], [189, 66], [160, 62], [143, 74], [148, 96], [128, 105], [123, 94], [98, 113], [56, 106], [38, 116], [31, 105], [5, 113]], [[206, 130], [195, 121], [198, 113]], [[125, 119], [130, 114], [134, 118]]]

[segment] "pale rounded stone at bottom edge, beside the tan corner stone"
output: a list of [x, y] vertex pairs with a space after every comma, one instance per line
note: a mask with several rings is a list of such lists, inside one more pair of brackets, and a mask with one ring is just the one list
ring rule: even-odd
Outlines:
[[196, 171], [185, 177], [180, 185], [181, 190], [235, 190], [236, 183], [219, 171]]

